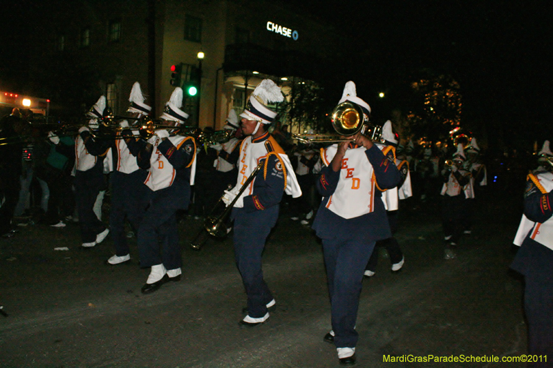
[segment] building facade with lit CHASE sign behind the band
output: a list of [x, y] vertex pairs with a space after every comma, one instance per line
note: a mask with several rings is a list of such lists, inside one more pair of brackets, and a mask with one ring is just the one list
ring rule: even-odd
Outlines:
[[[37, 32], [46, 41], [34, 43], [41, 58], [32, 64], [42, 68], [36, 72], [48, 75], [56, 64], [62, 70], [53, 75], [79, 79], [82, 92], [75, 93], [82, 93], [83, 107], [104, 94], [115, 115], [124, 115], [139, 81], [157, 116], [176, 79], [185, 89], [189, 122], [215, 129], [230, 109], [241, 112], [264, 78], [285, 93], [317, 82], [327, 55], [341, 44], [324, 21], [265, 0], [82, 0], [59, 6]], [[205, 57], [198, 59], [198, 52]], [[180, 71], [176, 78], [171, 66]], [[196, 95], [187, 93], [189, 85]]]

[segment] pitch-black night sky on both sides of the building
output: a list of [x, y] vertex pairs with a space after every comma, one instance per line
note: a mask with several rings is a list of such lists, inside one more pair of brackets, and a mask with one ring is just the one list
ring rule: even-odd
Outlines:
[[[359, 40], [350, 52], [359, 95], [387, 88], [393, 98], [427, 69], [459, 82], [463, 119], [551, 125], [550, 1], [281, 1]], [[0, 28], [0, 88], [21, 88], [26, 29], [48, 14], [33, 11], [30, 0], [9, 7]]]

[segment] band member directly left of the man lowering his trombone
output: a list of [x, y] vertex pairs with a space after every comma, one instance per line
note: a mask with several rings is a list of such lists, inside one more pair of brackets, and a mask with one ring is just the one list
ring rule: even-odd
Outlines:
[[[161, 124], [178, 128], [188, 119], [180, 110], [182, 89], [175, 88], [160, 116]], [[147, 209], [138, 229], [140, 267], [151, 267], [142, 293], [152, 293], [166, 280], [178, 281], [182, 258], [178, 244], [176, 212], [187, 209], [190, 185], [196, 173], [196, 142], [193, 137], [174, 135], [174, 130], [156, 130], [147, 142], [142, 141], [138, 166], [148, 170], [144, 184]]]

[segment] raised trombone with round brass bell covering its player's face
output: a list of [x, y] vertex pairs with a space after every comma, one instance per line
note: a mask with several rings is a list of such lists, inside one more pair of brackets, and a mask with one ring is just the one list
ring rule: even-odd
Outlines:
[[348, 142], [343, 136], [351, 136], [357, 133], [370, 133], [371, 140], [382, 142], [382, 127], [368, 126], [361, 106], [351, 101], [338, 104], [332, 111], [332, 127], [338, 135], [329, 134], [292, 134], [292, 137], [301, 143], [332, 143]]

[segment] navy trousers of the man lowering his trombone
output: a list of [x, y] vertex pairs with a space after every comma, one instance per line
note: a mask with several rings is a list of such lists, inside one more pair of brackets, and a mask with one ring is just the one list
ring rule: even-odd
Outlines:
[[269, 287], [263, 280], [261, 255], [265, 248], [265, 240], [277, 222], [279, 206], [254, 213], [234, 209], [232, 214], [234, 257], [247, 294], [248, 315], [261, 318], [267, 313], [266, 304], [273, 299]]

